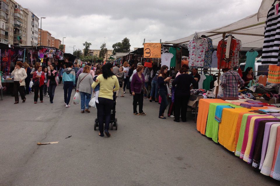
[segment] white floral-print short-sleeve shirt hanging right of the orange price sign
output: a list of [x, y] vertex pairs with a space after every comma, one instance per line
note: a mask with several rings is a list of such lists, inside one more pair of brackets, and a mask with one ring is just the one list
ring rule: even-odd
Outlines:
[[208, 50], [207, 39], [194, 38], [190, 40], [188, 50], [189, 50], [189, 66], [204, 67], [205, 50]]

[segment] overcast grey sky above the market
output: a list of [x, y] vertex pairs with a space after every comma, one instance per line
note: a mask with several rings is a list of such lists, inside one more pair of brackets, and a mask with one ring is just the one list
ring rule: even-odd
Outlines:
[[[258, 12], [262, 0], [15, 0], [42, 20], [42, 29], [64, 38], [65, 52], [106, 43], [108, 49], [127, 37], [131, 48], [171, 41], [235, 22]], [[187, 15], [187, 16], [186, 16]], [[40, 25], [40, 20], [39, 20]]]

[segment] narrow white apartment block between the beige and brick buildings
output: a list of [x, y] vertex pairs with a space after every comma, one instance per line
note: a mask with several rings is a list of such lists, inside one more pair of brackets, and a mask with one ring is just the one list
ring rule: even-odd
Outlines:
[[31, 10], [24, 8], [28, 12], [27, 17], [27, 46], [37, 46], [38, 44], [38, 29], [39, 29], [39, 18], [34, 15]]

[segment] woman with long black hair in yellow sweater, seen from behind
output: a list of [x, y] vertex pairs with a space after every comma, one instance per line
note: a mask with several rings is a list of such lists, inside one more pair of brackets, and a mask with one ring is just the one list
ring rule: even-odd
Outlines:
[[[94, 81], [91, 85], [94, 89], [98, 84], [100, 85], [97, 107], [97, 120], [99, 124], [99, 136], [103, 137], [104, 133], [106, 136], [111, 136], [109, 133], [110, 124], [110, 113], [113, 107], [113, 92], [120, 89], [119, 81], [117, 76], [113, 73], [113, 65], [106, 63], [102, 67], [102, 74], [97, 76], [97, 81]], [[114, 88], [115, 86], [115, 88]], [[103, 121], [105, 117], [105, 131], [103, 131]]]

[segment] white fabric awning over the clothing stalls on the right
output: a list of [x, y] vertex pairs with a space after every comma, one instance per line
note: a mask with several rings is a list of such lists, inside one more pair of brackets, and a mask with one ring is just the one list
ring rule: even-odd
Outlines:
[[[218, 42], [222, 39], [222, 33], [228, 31], [232, 31], [231, 33], [235, 38], [241, 40], [242, 42], [242, 50], [241, 51], [249, 51], [250, 49], [261, 50], [263, 46], [264, 40], [264, 30], [265, 30], [265, 17], [257, 19], [257, 13], [245, 17], [237, 22], [228, 24], [226, 26], [222, 26], [220, 28], [211, 29], [208, 31], [197, 32], [198, 35], [213, 35], [214, 33], [219, 33], [218, 35], [210, 36], [213, 42], [213, 46], [217, 47]], [[255, 26], [252, 26], [255, 25]], [[246, 28], [247, 27], [247, 28]], [[242, 29], [240, 29], [242, 28]], [[237, 33], [239, 33], [237, 35]], [[241, 35], [240, 35], [241, 34]], [[253, 35], [252, 35], [253, 34]], [[174, 41], [166, 41], [164, 44], [186, 44], [188, 45], [188, 41], [194, 37], [195, 34], [192, 34], [188, 37], [184, 37], [182, 39], [174, 40]]]

